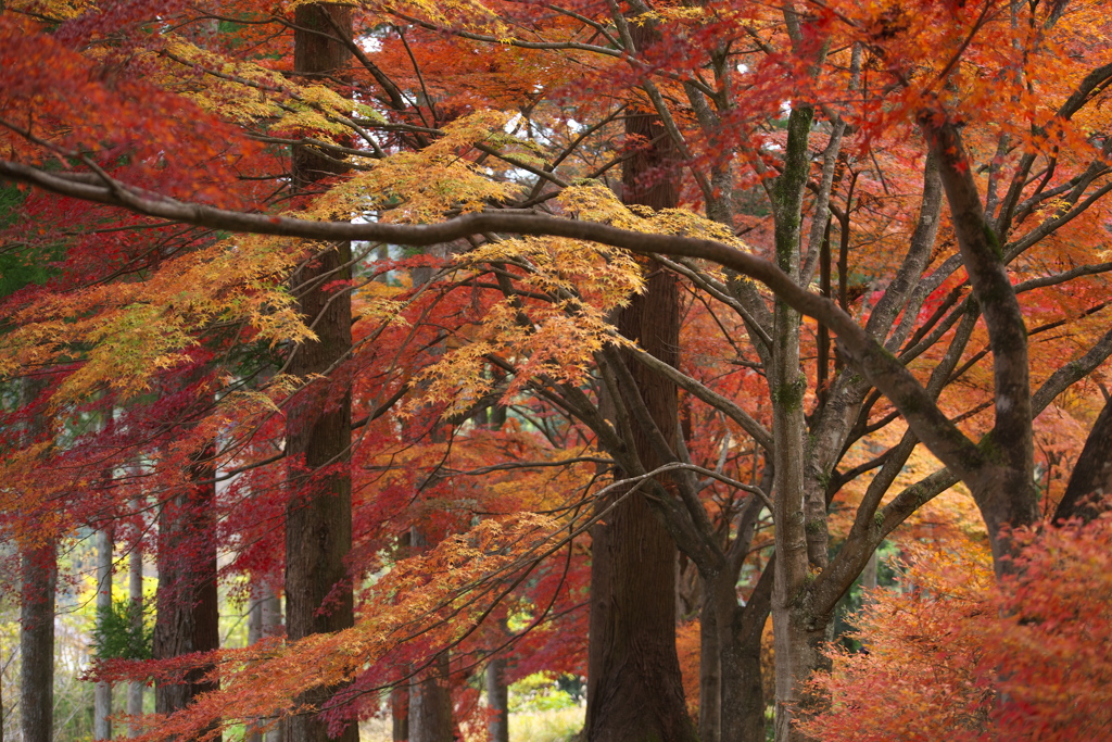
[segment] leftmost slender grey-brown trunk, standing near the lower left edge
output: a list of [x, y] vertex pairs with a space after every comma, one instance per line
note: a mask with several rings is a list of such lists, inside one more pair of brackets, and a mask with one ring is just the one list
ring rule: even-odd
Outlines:
[[[54, 542], [23, 552], [20, 604], [20, 728], [24, 742], [53, 742]], [[99, 601], [98, 601], [99, 604]]]

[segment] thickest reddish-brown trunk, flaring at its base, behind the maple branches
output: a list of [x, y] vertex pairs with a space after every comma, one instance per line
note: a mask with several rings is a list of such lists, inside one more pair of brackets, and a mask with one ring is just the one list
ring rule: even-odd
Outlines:
[[[632, 24], [635, 44], [651, 41], [648, 26]], [[623, 200], [654, 209], [678, 204], [671, 168], [674, 149], [652, 115], [626, 120], [637, 147], [623, 171]], [[679, 360], [679, 299], [675, 277], [649, 271], [647, 290], [622, 310], [618, 328], [669, 364]], [[629, 360], [635, 389], [657, 427], [677, 428], [676, 387]], [[631, 442], [646, 469], [663, 462], [645, 431]], [[600, 503], [605, 507], [608, 503]], [[589, 742], [685, 742], [695, 740], [676, 657], [676, 546], [642, 494], [626, 497], [593, 530], [587, 740]]]

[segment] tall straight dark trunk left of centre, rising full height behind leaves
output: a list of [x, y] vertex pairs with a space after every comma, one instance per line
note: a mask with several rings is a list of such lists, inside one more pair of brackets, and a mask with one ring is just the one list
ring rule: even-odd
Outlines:
[[[351, 34], [351, 8], [331, 3], [298, 6], [294, 34], [294, 71], [314, 79], [346, 76], [349, 52], [329, 36]], [[310, 148], [294, 150], [294, 186], [305, 190], [347, 167]], [[341, 218], [344, 215], [339, 215]], [[337, 243], [317, 255], [294, 278], [300, 311], [314, 324], [316, 340], [298, 346], [290, 373], [302, 378], [326, 374], [351, 348], [351, 303], [336, 296], [329, 284], [350, 276], [349, 243]], [[286, 454], [294, 496], [286, 513], [286, 629], [291, 641], [355, 624], [351, 585], [344, 563], [351, 548], [350, 388], [314, 382], [287, 410]], [[327, 473], [320, 469], [329, 467]], [[320, 689], [300, 700], [319, 706], [335, 694]], [[297, 715], [286, 725], [288, 742], [329, 740], [324, 720]], [[349, 724], [339, 740], [355, 742], [359, 730]]]

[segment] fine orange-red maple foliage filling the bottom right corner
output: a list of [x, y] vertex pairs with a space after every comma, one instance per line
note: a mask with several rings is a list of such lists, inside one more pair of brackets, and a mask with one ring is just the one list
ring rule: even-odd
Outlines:
[[1112, 520], [1019, 534], [1000, 583], [983, 550], [919, 546], [855, 617], [860, 653], [814, 681], [818, 740], [1098, 740], [1112, 728]]

